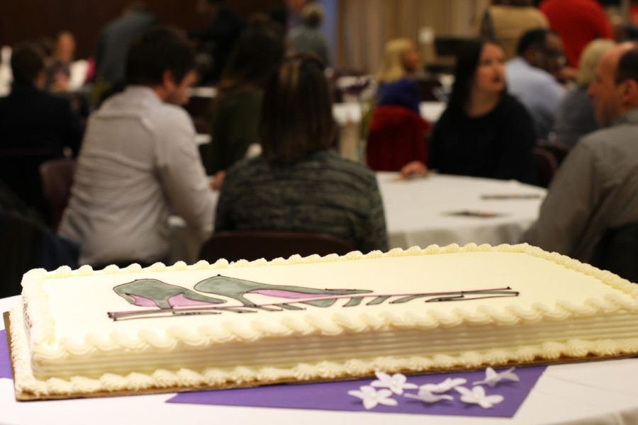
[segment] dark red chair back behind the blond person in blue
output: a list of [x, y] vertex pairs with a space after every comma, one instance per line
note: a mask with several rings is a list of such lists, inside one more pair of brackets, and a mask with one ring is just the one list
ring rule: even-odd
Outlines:
[[372, 113], [366, 161], [374, 171], [399, 171], [408, 162], [427, 164], [431, 125], [403, 106], [379, 106]]

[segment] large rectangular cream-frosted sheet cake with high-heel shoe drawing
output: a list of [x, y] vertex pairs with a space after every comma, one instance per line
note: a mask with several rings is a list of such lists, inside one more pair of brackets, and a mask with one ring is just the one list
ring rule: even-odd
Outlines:
[[33, 270], [16, 391], [43, 398], [638, 353], [638, 285], [527, 245]]

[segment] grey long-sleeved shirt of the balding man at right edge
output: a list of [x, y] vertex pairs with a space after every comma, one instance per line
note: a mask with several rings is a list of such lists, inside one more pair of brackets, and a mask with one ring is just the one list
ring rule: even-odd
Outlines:
[[581, 138], [525, 242], [588, 262], [606, 229], [632, 222], [638, 222], [638, 109]]

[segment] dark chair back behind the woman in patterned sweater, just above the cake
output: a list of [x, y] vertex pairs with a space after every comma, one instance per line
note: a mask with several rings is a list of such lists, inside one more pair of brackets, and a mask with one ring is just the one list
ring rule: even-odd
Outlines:
[[221, 232], [204, 242], [199, 259], [214, 263], [257, 259], [284, 259], [294, 254], [345, 255], [354, 247], [343, 239], [323, 233], [307, 232]]

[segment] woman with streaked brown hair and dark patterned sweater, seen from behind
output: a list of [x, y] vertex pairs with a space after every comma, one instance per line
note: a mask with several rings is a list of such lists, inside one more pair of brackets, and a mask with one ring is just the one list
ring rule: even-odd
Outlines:
[[264, 93], [262, 155], [228, 169], [215, 232], [320, 232], [362, 252], [388, 249], [376, 178], [329, 150], [334, 133], [323, 64], [289, 58]]

